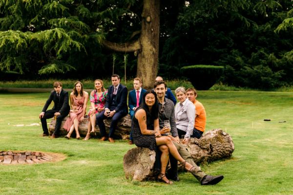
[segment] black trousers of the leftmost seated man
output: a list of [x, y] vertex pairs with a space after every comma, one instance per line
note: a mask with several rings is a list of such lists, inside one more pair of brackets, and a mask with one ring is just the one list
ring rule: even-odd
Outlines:
[[[44, 132], [44, 134], [48, 134], [48, 127], [47, 127], [47, 119], [48, 118], [52, 118], [54, 117], [54, 114], [59, 112], [59, 110], [47, 110], [44, 114], [44, 116], [41, 118], [41, 123], [42, 123], [42, 130]], [[68, 115], [68, 113], [66, 113], [66, 115], [58, 115], [56, 118], [56, 124], [55, 124], [55, 130], [54, 130], [54, 134], [59, 136], [60, 134], [60, 127], [61, 127], [61, 123], [64, 117], [66, 117]]]

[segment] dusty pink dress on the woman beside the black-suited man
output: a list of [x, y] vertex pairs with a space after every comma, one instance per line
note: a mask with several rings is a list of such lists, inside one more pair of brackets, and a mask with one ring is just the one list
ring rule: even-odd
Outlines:
[[73, 124], [73, 120], [77, 117], [78, 121], [81, 117], [84, 116], [84, 96], [78, 100], [75, 96], [73, 97], [73, 106], [76, 106], [77, 112], [70, 112], [65, 124], [63, 126], [66, 131], [70, 130], [70, 127]]

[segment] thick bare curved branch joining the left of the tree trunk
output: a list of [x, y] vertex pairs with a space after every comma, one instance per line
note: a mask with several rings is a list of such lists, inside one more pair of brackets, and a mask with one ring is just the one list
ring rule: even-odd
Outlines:
[[114, 50], [116, 52], [135, 52], [141, 49], [141, 44], [139, 40], [126, 43], [113, 43], [107, 40], [103, 41], [105, 48]]

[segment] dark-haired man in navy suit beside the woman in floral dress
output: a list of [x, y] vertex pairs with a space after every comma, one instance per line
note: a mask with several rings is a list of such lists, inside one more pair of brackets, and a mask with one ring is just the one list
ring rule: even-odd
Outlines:
[[101, 140], [105, 141], [107, 137], [105, 124], [103, 120], [105, 118], [112, 118], [108, 137], [110, 142], [115, 142], [113, 137], [115, 129], [117, 127], [117, 123], [122, 117], [125, 117], [128, 113], [127, 88], [126, 86], [120, 84], [119, 75], [112, 75], [111, 80], [112, 85], [108, 89], [105, 110], [97, 116], [96, 121], [100, 128], [102, 136]]

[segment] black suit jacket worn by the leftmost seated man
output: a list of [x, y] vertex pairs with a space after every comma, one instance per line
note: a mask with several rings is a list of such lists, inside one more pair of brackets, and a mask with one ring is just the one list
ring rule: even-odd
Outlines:
[[46, 112], [51, 102], [54, 101], [54, 106], [52, 110], [57, 110], [60, 114], [68, 114], [70, 110], [70, 106], [68, 103], [68, 92], [64, 91], [63, 89], [60, 92], [60, 97], [57, 98], [57, 93], [55, 90], [51, 91], [50, 97], [46, 101], [42, 112]]

